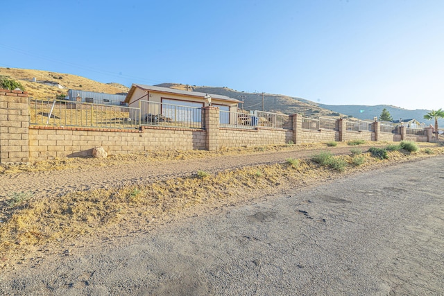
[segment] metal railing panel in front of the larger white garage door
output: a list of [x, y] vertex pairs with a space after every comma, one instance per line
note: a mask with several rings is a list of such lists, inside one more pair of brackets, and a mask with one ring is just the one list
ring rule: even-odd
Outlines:
[[205, 128], [203, 109], [167, 103], [139, 101], [140, 125]]

